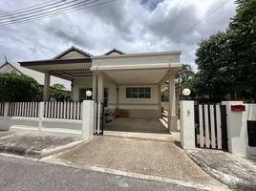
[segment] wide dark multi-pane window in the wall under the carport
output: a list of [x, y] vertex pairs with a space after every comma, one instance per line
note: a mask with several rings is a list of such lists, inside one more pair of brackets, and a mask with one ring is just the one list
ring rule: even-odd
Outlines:
[[150, 87], [127, 87], [126, 98], [151, 98]]

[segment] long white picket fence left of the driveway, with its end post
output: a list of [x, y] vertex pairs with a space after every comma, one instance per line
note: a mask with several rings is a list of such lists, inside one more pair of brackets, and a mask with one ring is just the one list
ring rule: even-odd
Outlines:
[[[92, 114], [92, 115], [91, 115]], [[0, 103], [0, 130], [51, 131], [90, 138], [96, 133], [95, 101]]]

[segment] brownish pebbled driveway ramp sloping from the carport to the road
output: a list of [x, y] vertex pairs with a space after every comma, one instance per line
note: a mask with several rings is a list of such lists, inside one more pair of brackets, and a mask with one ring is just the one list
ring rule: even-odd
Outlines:
[[[223, 186], [207, 175], [180, 148], [179, 142], [96, 137], [59, 154], [67, 164], [98, 166], [192, 183]], [[51, 160], [51, 159], [50, 159]]]

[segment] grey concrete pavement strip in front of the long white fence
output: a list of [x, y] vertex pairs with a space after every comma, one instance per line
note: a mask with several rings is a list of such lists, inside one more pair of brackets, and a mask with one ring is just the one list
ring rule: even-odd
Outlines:
[[0, 152], [42, 158], [81, 141], [80, 138], [38, 131], [0, 131]]

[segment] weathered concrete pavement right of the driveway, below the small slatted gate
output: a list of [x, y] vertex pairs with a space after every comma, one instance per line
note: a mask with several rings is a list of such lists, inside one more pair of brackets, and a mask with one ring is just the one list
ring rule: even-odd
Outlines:
[[187, 151], [211, 176], [238, 190], [256, 190], [256, 158], [211, 150]]

